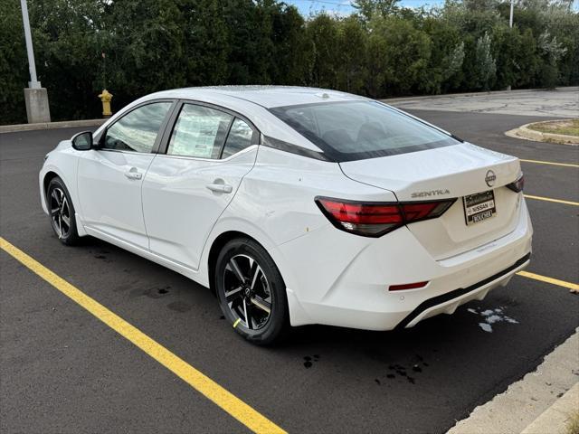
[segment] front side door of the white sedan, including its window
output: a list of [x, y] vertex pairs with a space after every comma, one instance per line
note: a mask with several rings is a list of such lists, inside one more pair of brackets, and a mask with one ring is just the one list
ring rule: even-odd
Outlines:
[[82, 220], [90, 232], [148, 249], [141, 186], [174, 101], [140, 105], [103, 132], [82, 154], [77, 177]]

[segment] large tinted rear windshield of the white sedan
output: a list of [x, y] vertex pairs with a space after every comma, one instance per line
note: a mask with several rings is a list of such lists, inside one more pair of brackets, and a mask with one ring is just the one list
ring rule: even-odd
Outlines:
[[270, 110], [334, 161], [394, 156], [459, 143], [377, 101], [325, 102]]

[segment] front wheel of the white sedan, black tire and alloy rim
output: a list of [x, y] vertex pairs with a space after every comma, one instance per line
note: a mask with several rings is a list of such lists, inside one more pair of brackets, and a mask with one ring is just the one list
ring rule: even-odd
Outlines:
[[46, 188], [46, 206], [52, 231], [62, 241], [62, 244], [67, 246], [77, 244], [81, 237], [76, 229], [71, 194], [58, 176], [53, 177]]

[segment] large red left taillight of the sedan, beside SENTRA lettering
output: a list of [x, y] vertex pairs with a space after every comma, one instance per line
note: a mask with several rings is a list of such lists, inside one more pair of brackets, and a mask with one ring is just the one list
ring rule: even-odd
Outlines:
[[317, 197], [316, 203], [337, 229], [365, 237], [379, 237], [407, 223], [440, 217], [455, 200], [376, 203]]

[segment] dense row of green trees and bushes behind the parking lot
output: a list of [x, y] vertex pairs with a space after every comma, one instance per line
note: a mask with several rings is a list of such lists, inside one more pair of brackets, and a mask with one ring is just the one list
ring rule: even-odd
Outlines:
[[[0, 0], [0, 123], [25, 122], [29, 80], [18, 2]], [[36, 67], [53, 120], [100, 117], [156, 90], [288, 84], [373, 98], [579, 84], [571, 2], [498, 0], [303, 17], [278, 0], [28, 0]]]

